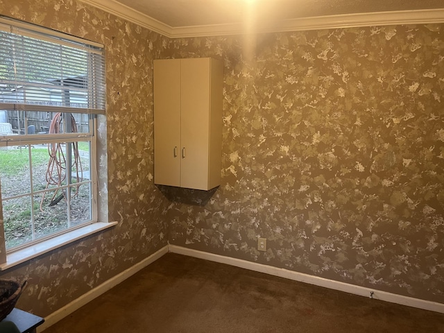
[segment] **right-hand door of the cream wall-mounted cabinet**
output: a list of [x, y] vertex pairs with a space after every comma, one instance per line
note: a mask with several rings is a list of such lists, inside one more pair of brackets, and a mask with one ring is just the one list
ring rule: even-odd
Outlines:
[[182, 59], [181, 81], [180, 186], [207, 190], [210, 149], [210, 59]]

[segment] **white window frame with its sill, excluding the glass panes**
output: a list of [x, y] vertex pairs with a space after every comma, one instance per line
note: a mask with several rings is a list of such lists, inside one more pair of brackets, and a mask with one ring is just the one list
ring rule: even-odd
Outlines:
[[[80, 223], [76, 226], [71, 226], [71, 228], [65, 228], [64, 230], [60, 230], [59, 232], [55, 232], [53, 234], [49, 234], [44, 237], [40, 237], [31, 242], [26, 242], [21, 246], [15, 246], [8, 250], [6, 250], [6, 240], [4, 234], [4, 223], [3, 223], [3, 207], [1, 200], [1, 191], [0, 191], [0, 271], [25, 262], [28, 259], [33, 257], [37, 257], [42, 255], [43, 253], [47, 253], [55, 248], [59, 248], [60, 246], [65, 246], [66, 244], [71, 243], [72, 241], [76, 241], [83, 237], [86, 237], [89, 234], [94, 234], [101, 230], [108, 229], [114, 225], [117, 225], [117, 222], [106, 222], [103, 220], [108, 220], [108, 182], [105, 184], [99, 185], [99, 182], [103, 182], [103, 178], [108, 178], [106, 175], [99, 177], [99, 173], [97, 169], [99, 169], [99, 161], [103, 160], [103, 157], [106, 155], [106, 135], [103, 138], [103, 133], [98, 135], [97, 132], [100, 128], [103, 128], [103, 123], [106, 123], [105, 110], [106, 110], [106, 93], [105, 93], [105, 49], [103, 44], [99, 44], [97, 42], [92, 42], [89, 40], [85, 40], [80, 37], [76, 37], [73, 35], [67, 35], [65, 33], [61, 33], [59, 31], [53, 31], [49, 28], [45, 28], [42, 26], [37, 26], [35, 24], [29, 24], [27, 22], [18, 21], [16, 19], [10, 19], [8, 17], [4, 17], [0, 15], [0, 30], [5, 31], [4, 26], [10, 25], [15, 28], [26, 30], [32, 38], [37, 37], [37, 39], [45, 40], [46, 42], [49, 40], [50, 42], [60, 42], [60, 44], [68, 45], [70, 42], [84, 44], [86, 46], [92, 47], [93, 53], [100, 53], [101, 58], [99, 60], [99, 65], [97, 65], [96, 58], [92, 62], [92, 67], [98, 66], [100, 74], [100, 82], [96, 83], [95, 79], [93, 81], [93, 100], [88, 102], [86, 108], [71, 108], [65, 105], [59, 105], [56, 107], [48, 106], [48, 105], [33, 105], [33, 104], [20, 104], [20, 103], [1, 103], [0, 101], [0, 110], [18, 110], [18, 111], [44, 111], [44, 112], [63, 112], [63, 113], [87, 113], [89, 114], [89, 133], [65, 133], [63, 135], [51, 135], [51, 134], [28, 134], [25, 135], [8, 135], [2, 136], [0, 135], [0, 146], [11, 146], [11, 145], [31, 145], [37, 143], [52, 143], [52, 142], [90, 142], [89, 146], [89, 173], [90, 173], [90, 202], [91, 202], [91, 220], [86, 221], [84, 223]], [[12, 28], [11, 28], [12, 32]], [[28, 36], [29, 37], [29, 36]], [[99, 51], [96, 51], [99, 49]], [[89, 55], [89, 49], [87, 51]], [[89, 57], [89, 56], [88, 56]], [[94, 56], [95, 57], [95, 56]], [[30, 57], [32, 58], [32, 57]], [[89, 60], [88, 60], [89, 61]], [[96, 71], [93, 71], [92, 76], [97, 75]], [[87, 77], [87, 76], [85, 76]], [[54, 77], [56, 78], [56, 77]], [[1, 79], [0, 79], [1, 80]], [[62, 80], [65, 78], [62, 77]], [[96, 86], [98, 84], [98, 86]], [[62, 87], [63, 85], [60, 84]], [[33, 87], [32, 85], [30, 85]], [[63, 92], [64, 89], [61, 88]], [[97, 96], [99, 95], [99, 96]], [[97, 100], [96, 100], [97, 99]], [[89, 101], [89, 99], [88, 99]], [[99, 101], [99, 102], [97, 102]], [[98, 104], [97, 104], [97, 103]], [[25, 120], [26, 124], [26, 120]], [[25, 126], [26, 128], [26, 126]], [[106, 128], [105, 128], [106, 130]], [[79, 140], [80, 139], [80, 140]], [[31, 149], [31, 148], [30, 148]], [[31, 155], [31, 151], [29, 153]], [[106, 160], [106, 159], [105, 159]], [[31, 164], [31, 161], [29, 161]], [[101, 162], [102, 164], [102, 162]], [[104, 167], [106, 169], [106, 173], [108, 172], [108, 167]], [[33, 178], [33, 174], [30, 172], [30, 178]], [[69, 182], [67, 183], [67, 187], [69, 187]], [[104, 188], [102, 188], [104, 187]], [[0, 180], [0, 188], [1, 188], [1, 180]], [[31, 189], [32, 190], [32, 189]], [[104, 192], [104, 193], [101, 193]], [[69, 212], [69, 210], [67, 210]], [[101, 219], [102, 221], [99, 221]]]

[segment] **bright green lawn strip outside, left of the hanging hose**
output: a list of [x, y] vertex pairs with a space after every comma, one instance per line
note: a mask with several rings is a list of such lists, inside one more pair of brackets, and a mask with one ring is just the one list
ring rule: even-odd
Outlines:
[[[33, 164], [48, 163], [49, 155], [46, 148], [33, 148]], [[0, 151], [0, 173], [3, 176], [12, 176], [29, 168], [28, 149]]]

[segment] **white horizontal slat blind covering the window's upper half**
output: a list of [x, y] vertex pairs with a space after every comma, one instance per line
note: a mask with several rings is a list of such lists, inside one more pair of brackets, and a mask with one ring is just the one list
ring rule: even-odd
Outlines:
[[0, 110], [105, 114], [103, 45], [0, 17]]

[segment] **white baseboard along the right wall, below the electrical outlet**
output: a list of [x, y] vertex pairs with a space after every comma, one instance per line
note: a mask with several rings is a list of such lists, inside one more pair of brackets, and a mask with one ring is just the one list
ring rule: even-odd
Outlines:
[[444, 313], [444, 304], [437, 302], [430, 302], [427, 300], [420, 300], [418, 298], [412, 298], [407, 296], [398, 295], [395, 293], [388, 293], [386, 291], [379, 291], [377, 289], [369, 289], [365, 287], [355, 286], [354, 284], [348, 284], [344, 282], [338, 282], [334, 280], [328, 280], [325, 278], [319, 278], [314, 275], [308, 275], [304, 273], [298, 273], [295, 271], [289, 271], [288, 269], [268, 266], [264, 264], [257, 264], [256, 262], [248, 262], [242, 259], [236, 259], [231, 257], [225, 257], [223, 255], [215, 255], [213, 253], [202, 252], [198, 250], [192, 250], [190, 248], [184, 248], [182, 246], [169, 245], [169, 252], [178, 253], [180, 255], [188, 255], [190, 257], [196, 257], [200, 259], [210, 260], [212, 262], [219, 262], [221, 264], [228, 264], [231, 266], [237, 266], [240, 268], [246, 268], [250, 271], [257, 271], [270, 275], [276, 275], [281, 278], [287, 278], [299, 282], [305, 282], [314, 284], [319, 287], [325, 287], [335, 289], [339, 291], [345, 291], [346, 293], [353, 293], [359, 296], [370, 297], [370, 292], [373, 292], [372, 297], [377, 300], [384, 300], [386, 302], [397, 303], [400, 305], [407, 305], [409, 307], [417, 307], [419, 309], [425, 309], [429, 311], [436, 311]]

